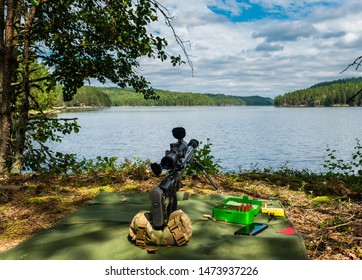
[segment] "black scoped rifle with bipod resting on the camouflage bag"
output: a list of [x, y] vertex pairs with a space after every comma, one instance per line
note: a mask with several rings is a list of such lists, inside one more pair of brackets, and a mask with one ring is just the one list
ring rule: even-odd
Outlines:
[[172, 135], [178, 141], [170, 144], [170, 150], [161, 159], [161, 163], [152, 163], [151, 169], [155, 175], [160, 175], [162, 170], [167, 170], [168, 176], [150, 192], [151, 197], [151, 220], [155, 229], [163, 229], [168, 222], [170, 214], [177, 209], [177, 191], [181, 187], [186, 167], [194, 163], [210, 181], [211, 185], [218, 189], [218, 186], [206, 173], [204, 166], [194, 158], [194, 150], [199, 146], [195, 139], [187, 144], [183, 138], [186, 131], [183, 127], [176, 127]]

